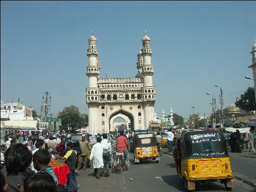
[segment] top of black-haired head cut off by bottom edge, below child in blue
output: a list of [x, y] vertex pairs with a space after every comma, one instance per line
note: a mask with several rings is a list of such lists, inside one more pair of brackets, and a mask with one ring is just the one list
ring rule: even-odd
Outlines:
[[55, 192], [56, 183], [47, 172], [37, 173], [24, 182], [24, 192]]

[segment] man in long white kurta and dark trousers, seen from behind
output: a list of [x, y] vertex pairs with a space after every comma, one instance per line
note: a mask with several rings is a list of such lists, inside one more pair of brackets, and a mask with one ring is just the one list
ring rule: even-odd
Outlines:
[[[96, 174], [96, 178], [99, 179], [101, 174], [101, 169], [104, 167], [103, 163], [103, 150], [108, 149], [111, 145], [109, 144], [107, 147], [105, 147], [103, 144], [100, 144], [101, 137], [97, 138], [97, 143], [93, 145], [91, 155], [90, 155], [90, 162], [93, 158], [93, 168], [94, 172]], [[110, 141], [108, 141], [110, 143]]]

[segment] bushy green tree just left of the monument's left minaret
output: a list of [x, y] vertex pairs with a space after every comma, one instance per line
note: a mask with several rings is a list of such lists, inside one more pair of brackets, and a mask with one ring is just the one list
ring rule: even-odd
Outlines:
[[80, 114], [79, 108], [74, 105], [63, 108], [58, 118], [61, 118], [61, 124], [65, 130], [71, 129], [76, 131], [88, 125], [88, 115]]

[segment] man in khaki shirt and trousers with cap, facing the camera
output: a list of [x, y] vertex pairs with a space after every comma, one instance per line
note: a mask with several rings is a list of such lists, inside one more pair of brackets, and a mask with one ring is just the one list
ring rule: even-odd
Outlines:
[[82, 166], [82, 163], [84, 162], [83, 170], [85, 170], [87, 165], [88, 154], [89, 154], [89, 151], [92, 150], [92, 148], [89, 142], [86, 140], [85, 134], [82, 135], [82, 140], [79, 141], [79, 144], [80, 144], [82, 154], [79, 156], [77, 169], [80, 169]]

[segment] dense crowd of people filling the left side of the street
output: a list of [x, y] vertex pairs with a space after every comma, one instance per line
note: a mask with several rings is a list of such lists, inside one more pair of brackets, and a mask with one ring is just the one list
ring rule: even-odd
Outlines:
[[[86, 140], [89, 138], [89, 141]], [[110, 176], [116, 166], [116, 152], [124, 152], [125, 164], [129, 166], [129, 144], [131, 135], [123, 132], [110, 134], [82, 135], [80, 141], [73, 141], [70, 134], [31, 135], [24, 137], [20, 131], [1, 141], [1, 192], [64, 192], [65, 188], [50, 166], [51, 159], [62, 159], [67, 163], [68, 192], [78, 190], [76, 172], [85, 170], [89, 152], [89, 162], [93, 160], [96, 178]], [[90, 143], [94, 145], [91, 147]], [[78, 145], [77, 145], [78, 144]], [[78, 146], [78, 147], [75, 147]], [[78, 157], [78, 158], [77, 158]], [[78, 164], [77, 164], [78, 160]], [[77, 165], [77, 168], [76, 168]]]

